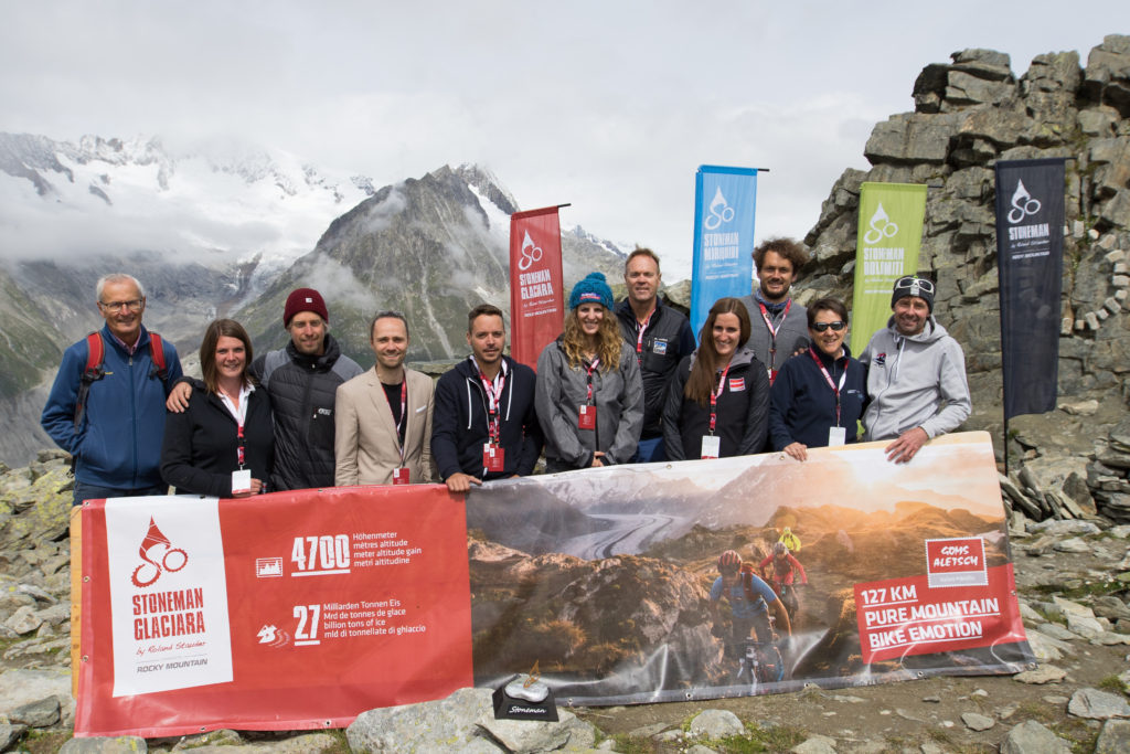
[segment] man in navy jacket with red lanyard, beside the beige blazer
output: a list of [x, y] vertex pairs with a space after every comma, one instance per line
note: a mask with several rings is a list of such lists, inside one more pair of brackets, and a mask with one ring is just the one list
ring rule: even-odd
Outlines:
[[531, 474], [542, 445], [533, 370], [503, 355], [502, 310], [472, 309], [467, 345], [471, 355], [435, 385], [432, 417], [432, 459], [452, 492]]

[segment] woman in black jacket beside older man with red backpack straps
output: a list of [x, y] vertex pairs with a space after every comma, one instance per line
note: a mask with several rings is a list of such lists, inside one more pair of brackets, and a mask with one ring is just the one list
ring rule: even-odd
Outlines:
[[247, 373], [251, 338], [235, 320], [216, 320], [200, 344], [203, 382], [183, 414], [165, 417], [160, 476], [177, 493], [246, 497], [267, 492], [275, 463], [271, 407]]

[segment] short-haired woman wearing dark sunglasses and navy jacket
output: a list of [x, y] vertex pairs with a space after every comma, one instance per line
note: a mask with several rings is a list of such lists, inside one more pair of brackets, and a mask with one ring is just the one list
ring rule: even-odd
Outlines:
[[835, 298], [808, 306], [811, 347], [781, 367], [770, 391], [770, 440], [798, 461], [809, 448], [857, 441], [867, 405], [867, 369], [851, 357], [847, 309]]

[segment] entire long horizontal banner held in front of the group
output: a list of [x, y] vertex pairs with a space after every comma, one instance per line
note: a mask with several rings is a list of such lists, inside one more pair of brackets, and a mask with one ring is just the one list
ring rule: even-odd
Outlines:
[[[989, 435], [883, 445], [501, 480], [466, 519], [441, 485], [89, 504], [76, 733], [342, 727], [534, 664], [585, 705], [1023, 669]], [[781, 539], [788, 617], [716, 569], [772, 582]]]

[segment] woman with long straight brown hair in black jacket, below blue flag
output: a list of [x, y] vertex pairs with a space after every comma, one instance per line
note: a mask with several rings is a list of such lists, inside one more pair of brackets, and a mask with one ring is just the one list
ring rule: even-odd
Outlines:
[[698, 335], [701, 345], [679, 363], [663, 409], [667, 458], [729, 458], [759, 453], [768, 431], [770, 379], [749, 339], [749, 312], [719, 298]]

